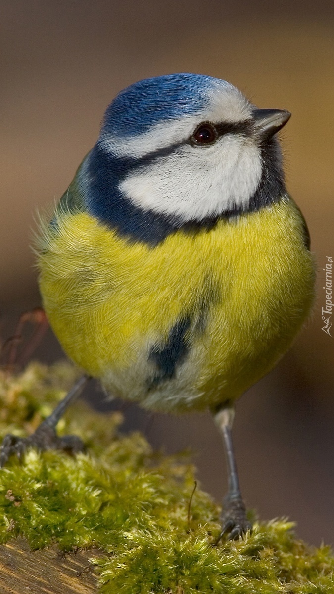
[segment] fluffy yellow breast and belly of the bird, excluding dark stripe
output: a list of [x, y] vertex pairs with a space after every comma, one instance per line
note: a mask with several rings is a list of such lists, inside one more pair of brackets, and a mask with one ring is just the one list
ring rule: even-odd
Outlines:
[[[288, 349], [314, 299], [314, 261], [292, 200], [155, 248], [89, 214], [61, 213], [39, 249], [43, 305], [65, 352], [111, 395], [155, 410], [240, 396]], [[148, 387], [152, 345], [185, 315], [187, 356]]]

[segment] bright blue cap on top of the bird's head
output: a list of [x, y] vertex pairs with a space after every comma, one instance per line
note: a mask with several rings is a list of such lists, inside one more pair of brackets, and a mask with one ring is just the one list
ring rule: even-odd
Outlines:
[[217, 86], [233, 88], [227, 81], [205, 74], [166, 74], [140, 80], [118, 93], [106, 109], [101, 135], [143, 134], [163, 120], [197, 113]]

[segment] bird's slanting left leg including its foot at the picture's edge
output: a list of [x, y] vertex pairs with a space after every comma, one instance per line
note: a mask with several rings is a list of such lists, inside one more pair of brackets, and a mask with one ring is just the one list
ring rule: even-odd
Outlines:
[[29, 448], [43, 450], [64, 450], [70, 454], [76, 454], [84, 450], [84, 444], [77, 435], [64, 435], [58, 437], [56, 434], [56, 425], [61, 419], [65, 410], [75, 402], [79, 396], [84, 384], [89, 380], [89, 375], [81, 375], [75, 382], [73, 388], [68, 392], [55, 410], [42, 421], [36, 431], [29, 437], [17, 437], [17, 435], [5, 435], [0, 450], [0, 467], [5, 466], [12, 454], [16, 454], [21, 459], [24, 452]]

